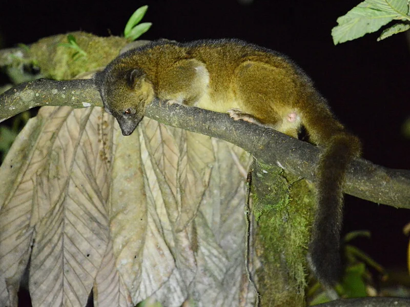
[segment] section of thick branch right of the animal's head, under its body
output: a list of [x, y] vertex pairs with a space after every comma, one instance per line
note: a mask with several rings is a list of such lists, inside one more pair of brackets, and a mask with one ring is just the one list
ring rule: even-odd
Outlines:
[[[162, 123], [231, 142], [265, 163], [277, 164], [297, 176], [314, 181], [320, 149], [228, 115], [181, 105], [147, 108], [147, 116]], [[410, 208], [410, 172], [388, 169], [364, 159], [348, 168], [344, 191], [358, 198], [397, 208]]]

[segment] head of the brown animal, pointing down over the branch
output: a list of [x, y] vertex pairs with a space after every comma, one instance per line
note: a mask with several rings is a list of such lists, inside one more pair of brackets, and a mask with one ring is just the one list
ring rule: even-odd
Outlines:
[[155, 98], [152, 83], [141, 69], [115, 62], [98, 72], [94, 80], [104, 108], [117, 119], [122, 135], [130, 135]]

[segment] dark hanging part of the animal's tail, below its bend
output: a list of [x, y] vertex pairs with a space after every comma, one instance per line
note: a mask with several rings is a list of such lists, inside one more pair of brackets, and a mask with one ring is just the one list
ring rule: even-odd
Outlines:
[[309, 260], [317, 278], [327, 287], [334, 286], [342, 273], [342, 185], [348, 164], [359, 152], [358, 139], [340, 133], [330, 139], [319, 161], [316, 182], [318, 207], [312, 228]]

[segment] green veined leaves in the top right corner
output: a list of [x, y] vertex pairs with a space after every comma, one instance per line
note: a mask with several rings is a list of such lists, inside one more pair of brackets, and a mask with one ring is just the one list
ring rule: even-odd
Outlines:
[[372, 33], [392, 20], [399, 23], [382, 31], [377, 40], [410, 29], [410, 1], [408, 0], [365, 0], [345, 15], [337, 18], [338, 26], [332, 29], [335, 45]]

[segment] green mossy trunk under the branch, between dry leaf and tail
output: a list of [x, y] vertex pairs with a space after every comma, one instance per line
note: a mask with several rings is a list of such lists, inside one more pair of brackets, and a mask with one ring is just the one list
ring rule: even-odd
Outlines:
[[306, 251], [315, 206], [312, 187], [276, 166], [252, 172], [257, 272], [263, 306], [303, 306]]

